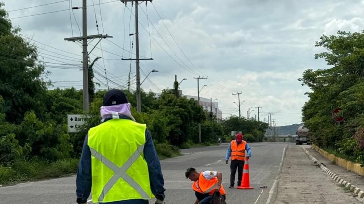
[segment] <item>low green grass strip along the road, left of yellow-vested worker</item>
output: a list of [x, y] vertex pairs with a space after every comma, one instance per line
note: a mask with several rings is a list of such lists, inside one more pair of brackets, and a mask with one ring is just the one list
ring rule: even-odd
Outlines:
[[0, 184], [12, 185], [24, 181], [59, 178], [77, 172], [78, 159], [57, 162], [16, 161], [9, 167], [0, 166]]

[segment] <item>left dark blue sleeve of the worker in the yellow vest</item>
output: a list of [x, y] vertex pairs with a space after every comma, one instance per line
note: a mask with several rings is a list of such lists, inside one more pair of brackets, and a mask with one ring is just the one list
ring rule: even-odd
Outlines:
[[76, 196], [78, 203], [86, 203], [91, 193], [91, 151], [87, 145], [88, 134], [82, 147], [76, 175]]

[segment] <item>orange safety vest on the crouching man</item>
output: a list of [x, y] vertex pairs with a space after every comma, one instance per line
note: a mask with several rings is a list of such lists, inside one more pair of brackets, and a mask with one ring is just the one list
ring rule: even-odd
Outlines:
[[[215, 192], [215, 188], [217, 187], [217, 183], [217, 177], [206, 180], [205, 177], [203, 177], [202, 173], [200, 173], [198, 180], [192, 184], [192, 189], [202, 194], [209, 193], [209, 195], [213, 195]], [[225, 188], [222, 184], [219, 192], [220, 195], [226, 195]]]

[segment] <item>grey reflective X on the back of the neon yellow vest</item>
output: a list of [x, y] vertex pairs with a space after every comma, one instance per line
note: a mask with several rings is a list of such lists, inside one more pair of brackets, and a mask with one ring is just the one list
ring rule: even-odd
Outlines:
[[120, 168], [104, 157], [102, 154], [97, 152], [96, 150], [90, 148], [91, 154], [98, 160], [100, 160], [105, 166], [110, 168], [115, 174], [110, 178], [109, 181], [105, 184], [104, 188], [102, 189], [101, 195], [99, 196], [99, 202], [104, 200], [107, 192], [114, 186], [114, 184], [120, 179], [124, 179], [131, 187], [133, 187], [143, 199], [149, 199], [150, 196], [146, 193], [143, 188], [128, 174], [126, 171], [131, 167], [131, 165], [141, 156], [141, 152], [144, 150], [144, 144], [139, 146], [137, 150], [130, 156], [130, 158], [121, 166]]

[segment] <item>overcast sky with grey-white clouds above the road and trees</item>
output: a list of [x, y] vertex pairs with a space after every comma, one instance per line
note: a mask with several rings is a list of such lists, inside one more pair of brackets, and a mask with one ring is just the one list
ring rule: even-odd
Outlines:
[[[82, 48], [75, 42], [64, 41], [66, 37], [80, 36], [82, 10], [72, 12], [70, 6], [81, 7], [82, 0], [4, 2], [5, 9], [11, 11], [13, 25], [20, 26], [21, 34], [37, 41], [33, 42], [39, 46], [41, 57], [52, 62], [46, 66], [52, 72], [48, 78], [56, 82], [54, 85], [82, 88], [82, 72], [77, 68], [81, 65]], [[54, 2], [58, 3], [49, 4]], [[49, 5], [34, 7], [42, 4]], [[97, 56], [104, 59], [97, 62], [95, 70], [101, 76], [96, 74], [95, 81], [100, 80], [99, 88], [105, 88], [105, 68], [110, 87], [125, 85], [130, 61], [120, 58], [135, 58], [130, 54], [135, 53], [135, 47], [131, 49], [133, 36], [129, 36], [135, 33], [135, 5], [128, 3], [125, 7], [112, 0], [88, 0], [87, 4], [88, 34], [98, 34], [96, 15], [99, 33], [114, 36], [110, 41], [102, 40], [103, 52], [99, 45], [90, 55], [91, 60]], [[22, 9], [27, 7], [34, 8]], [[17, 9], [22, 10], [12, 11]], [[314, 54], [322, 51], [314, 48], [315, 41], [322, 34], [335, 34], [337, 30], [362, 30], [363, 10], [364, 1], [357, 0], [154, 0], [147, 6], [142, 3], [140, 54], [141, 58], [154, 60], [142, 61], [141, 69], [145, 74], [159, 70], [149, 76], [150, 81], [146, 80], [142, 88], [160, 92], [173, 87], [177, 74], [178, 81], [187, 78], [181, 83], [183, 93], [197, 95], [197, 80], [193, 77], [208, 76], [200, 81], [200, 87], [207, 85], [201, 97], [218, 98], [224, 117], [238, 115], [233, 103], [238, 98], [232, 93], [241, 91], [240, 99], [245, 100], [241, 105], [243, 116], [249, 107], [259, 106], [261, 120], [269, 112], [279, 126], [300, 123], [301, 107], [307, 100], [304, 93], [309, 90], [297, 79], [306, 69], [327, 68], [323, 60], [314, 60]], [[36, 15], [41, 13], [48, 14]], [[131, 63], [131, 70], [135, 76], [135, 62]], [[144, 78], [141, 74], [141, 80]], [[251, 110], [254, 117], [257, 110]]]

